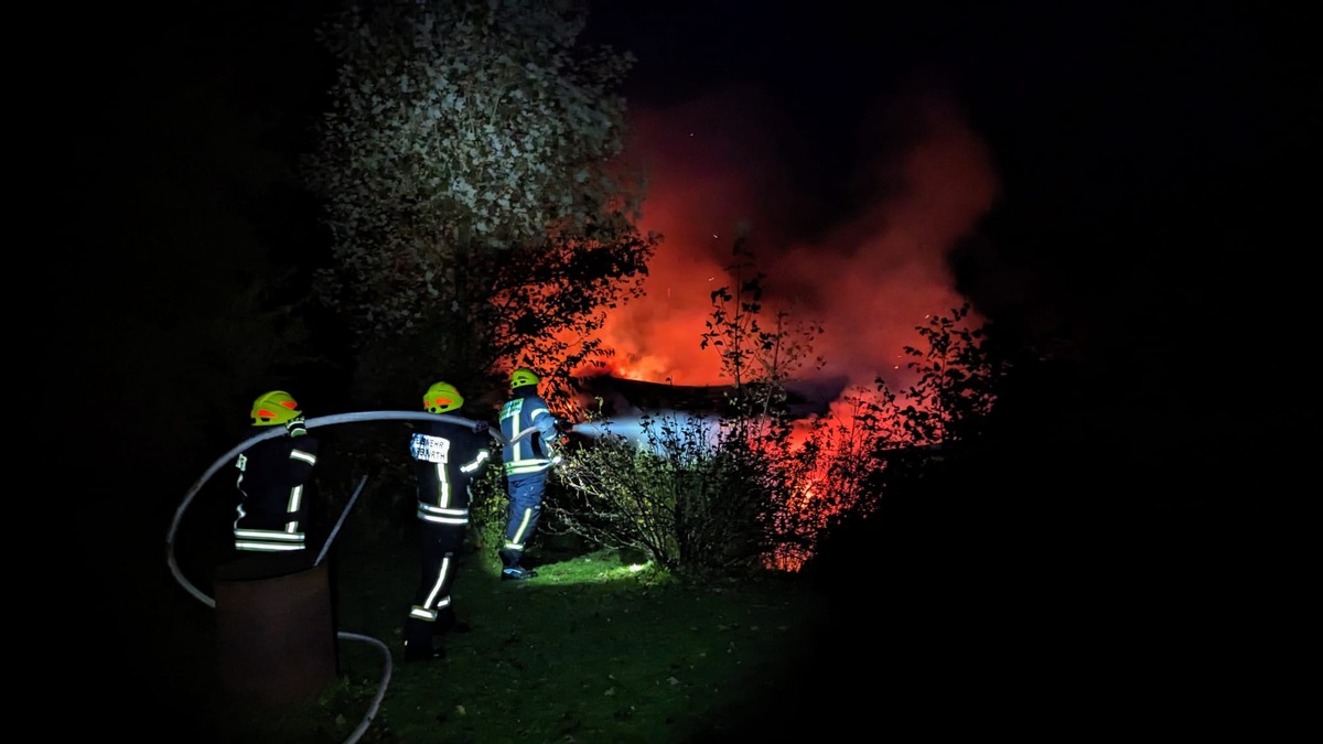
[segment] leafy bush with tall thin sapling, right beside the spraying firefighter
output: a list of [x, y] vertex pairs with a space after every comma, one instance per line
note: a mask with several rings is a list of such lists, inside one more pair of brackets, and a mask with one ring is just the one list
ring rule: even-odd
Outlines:
[[607, 436], [568, 458], [546, 504], [552, 528], [640, 549], [685, 576], [762, 571], [799, 539], [781, 516], [794, 494], [781, 457], [794, 434], [785, 385], [808, 363], [819, 328], [789, 311], [763, 324], [762, 275], [745, 246], [734, 246], [737, 290], [712, 293], [701, 338], [736, 381], [720, 416], [646, 417], [646, 443]]

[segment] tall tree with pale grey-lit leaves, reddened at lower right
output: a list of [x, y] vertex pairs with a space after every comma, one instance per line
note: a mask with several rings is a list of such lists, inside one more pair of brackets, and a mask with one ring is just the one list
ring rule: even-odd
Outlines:
[[579, 48], [586, 19], [578, 0], [396, 0], [321, 29], [339, 66], [307, 168], [332, 237], [318, 290], [361, 381], [564, 376], [606, 353], [605, 311], [642, 294], [660, 238], [634, 225], [644, 185], [622, 159], [634, 60]]

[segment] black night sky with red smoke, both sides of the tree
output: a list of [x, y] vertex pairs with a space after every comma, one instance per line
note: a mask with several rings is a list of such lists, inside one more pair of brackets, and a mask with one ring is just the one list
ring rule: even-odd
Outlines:
[[[697, 335], [737, 226], [750, 230], [774, 301], [824, 324], [824, 373], [851, 383], [904, 385], [896, 363], [914, 326], [964, 299], [1029, 338], [1088, 335], [1081, 353], [1125, 369], [1130, 388], [1168, 351], [1238, 365], [1262, 339], [1266, 328], [1245, 320], [1265, 310], [1258, 285], [1285, 269], [1283, 217], [1303, 199], [1283, 177], [1316, 93], [1294, 44], [1303, 13], [771, 5], [594, 11], [586, 41], [639, 57], [624, 91], [630, 156], [652, 176], [643, 226], [667, 238], [648, 298], [607, 328], [620, 373], [716, 381]], [[77, 245], [50, 256], [85, 258], [62, 267], [74, 299], [64, 307], [86, 299], [105, 312], [123, 290], [151, 315], [175, 301], [163, 287], [208, 261], [316, 261], [314, 208], [284, 196], [328, 81], [311, 36], [327, 7], [241, 3], [163, 19], [106, 8], [60, 26], [53, 36], [89, 75], [57, 71], [81, 93], [48, 86], [32, 107], [58, 142], [41, 193]], [[153, 232], [153, 217], [243, 224], [192, 236]], [[198, 250], [176, 248], [188, 242]], [[1168, 324], [1180, 332], [1155, 328]], [[1172, 343], [1183, 348], [1158, 348]]]

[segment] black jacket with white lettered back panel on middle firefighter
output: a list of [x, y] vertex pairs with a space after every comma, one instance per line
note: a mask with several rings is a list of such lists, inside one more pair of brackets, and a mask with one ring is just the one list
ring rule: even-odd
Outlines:
[[491, 458], [490, 437], [463, 424], [429, 421], [409, 440], [418, 463], [418, 519], [468, 524], [468, 486]]

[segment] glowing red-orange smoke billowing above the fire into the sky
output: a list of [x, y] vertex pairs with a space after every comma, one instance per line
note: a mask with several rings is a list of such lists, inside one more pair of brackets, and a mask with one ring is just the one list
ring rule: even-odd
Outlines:
[[[996, 179], [979, 138], [957, 107], [933, 93], [882, 113], [918, 136], [904, 151], [884, 150], [871, 131], [855, 138], [861, 183], [890, 184], [868, 208], [810, 236], [830, 208], [794, 183], [781, 156], [782, 113], [751, 90], [726, 90], [667, 110], [635, 110], [632, 155], [648, 168], [640, 228], [664, 236], [644, 283], [647, 297], [614, 311], [603, 336], [617, 351], [611, 373], [679, 385], [728, 384], [718, 359], [700, 349], [710, 293], [734, 287], [728, 267], [738, 225], [747, 225], [767, 307], [794, 307], [819, 322], [822, 375], [893, 389], [909, 384], [902, 347], [917, 326], [963, 299], [945, 257], [991, 207]], [[814, 143], [806, 143], [812, 151]], [[902, 188], [896, 189], [900, 183]], [[971, 318], [971, 320], [976, 320]]]

